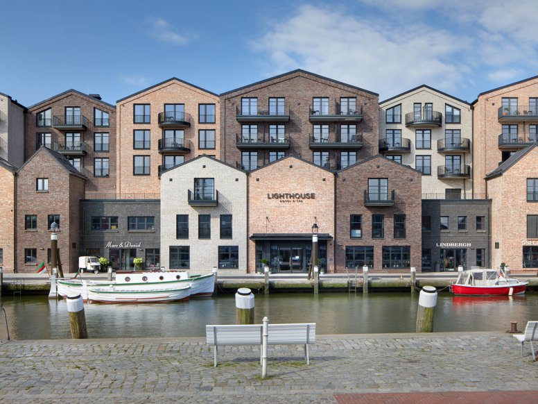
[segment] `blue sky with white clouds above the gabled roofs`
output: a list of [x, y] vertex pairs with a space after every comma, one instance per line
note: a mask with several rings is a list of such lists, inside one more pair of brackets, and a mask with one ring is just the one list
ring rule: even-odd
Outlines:
[[[46, 6], [44, 6], [46, 4]], [[420, 84], [471, 102], [538, 75], [535, 0], [3, 1], [0, 92], [103, 101], [173, 76], [212, 92], [306, 69], [381, 101]]]

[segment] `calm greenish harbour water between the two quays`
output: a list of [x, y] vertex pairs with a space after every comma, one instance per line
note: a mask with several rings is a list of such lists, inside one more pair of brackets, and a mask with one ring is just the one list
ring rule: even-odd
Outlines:
[[[347, 293], [255, 296], [255, 320], [272, 323], [315, 322], [318, 334], [406, 333], [415, 331], [418, 294]], [[3, 296], [12, 339], [69, 339], [64, 300], [46, 296]], [[85, 304], [90, 338], [201, 337], [206, 324], [235, 322], [234, 295], [188, 302], [138, 305]], [[3, 317], [3, 314], [1, 314]], [[434, 331], [503, 331], [510, 321], [524, 328], [538, 319], [538, 294], [523, 296], [452, 296], [441, 293]], [[0, 340], [6, 340], [0, 318]]]

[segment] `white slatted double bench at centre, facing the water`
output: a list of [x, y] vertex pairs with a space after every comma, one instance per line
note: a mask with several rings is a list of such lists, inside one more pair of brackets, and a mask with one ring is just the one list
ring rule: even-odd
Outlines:
[[[214, 346], [214, 366], [217, 366], [219, 346], [259, 345], [260, 362], [263, 352], [263, 326], [205, 326], [206, 342]], [[268, 345], [304, 345], [304, 359], [310, 364], [309, 344], [315, 343], [315, 323], [268, 324]]]

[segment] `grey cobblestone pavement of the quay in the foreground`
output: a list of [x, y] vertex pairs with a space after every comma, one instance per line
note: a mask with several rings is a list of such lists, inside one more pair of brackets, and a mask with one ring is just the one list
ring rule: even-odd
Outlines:
[[[318, 335], [300, 346], [219, 349], [202, 338], [13, 341], [0, 346], [0, 402], [336, 403], [338, 394], [537, 390], [538, 364], [505, 333]], [[538, 392], [537, 392], [538, 394]], [[397, 402], [397, 401], [395, 401]]]

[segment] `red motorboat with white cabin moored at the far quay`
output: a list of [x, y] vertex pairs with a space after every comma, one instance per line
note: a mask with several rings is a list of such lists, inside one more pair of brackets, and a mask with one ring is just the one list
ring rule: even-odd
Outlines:
[[523, 294], [527, 281], [508, 278], [503, 271], [494, 269], [469, 269], [461, 271], [458, 279], [450, 285], [451, 292], [459, 295], [501, 295]]

